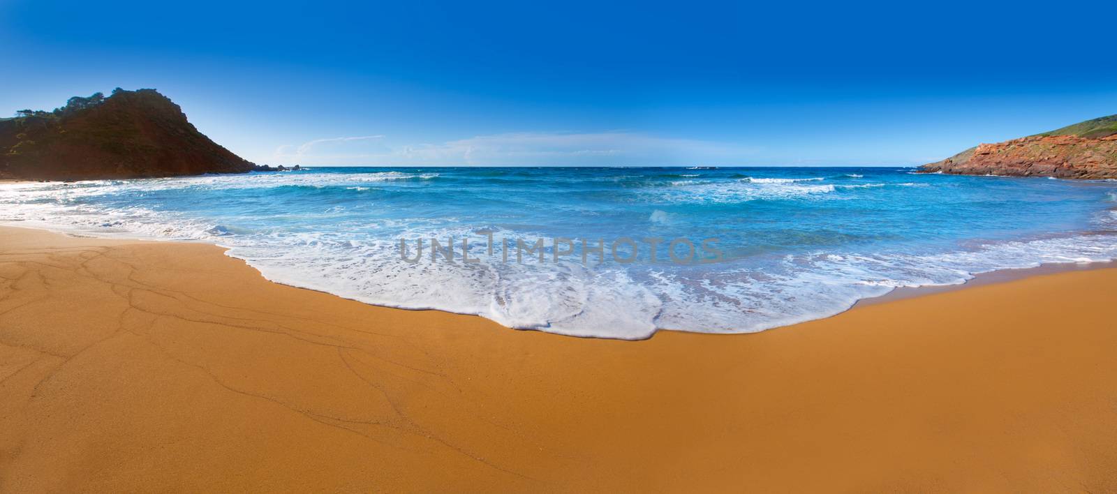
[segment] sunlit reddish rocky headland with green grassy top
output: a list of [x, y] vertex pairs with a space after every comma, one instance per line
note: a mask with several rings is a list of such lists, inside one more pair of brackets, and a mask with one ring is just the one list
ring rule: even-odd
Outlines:
[[919, 167], [934, 173], [1117, 179], [1117, 115], [997, 144]]

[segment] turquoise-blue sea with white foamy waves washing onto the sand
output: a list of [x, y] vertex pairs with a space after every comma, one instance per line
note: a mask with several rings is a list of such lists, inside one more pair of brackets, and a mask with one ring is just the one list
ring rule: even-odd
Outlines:
[[1114, 182], [901, 168], [314, 168], [0, 184], [12, 226], [207, 241], [289, 285], [618, 339], [755, 332], [895, 287], [1113, 259], [1115, 207]]

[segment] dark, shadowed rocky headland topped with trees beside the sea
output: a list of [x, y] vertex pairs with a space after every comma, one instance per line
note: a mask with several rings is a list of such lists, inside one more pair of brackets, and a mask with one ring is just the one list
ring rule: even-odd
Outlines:
[[54, 112], [0, 120], [0, 178], [93, 180], [242, 173], [254, 164], [218, 145], [155, 89], [73, 97]]

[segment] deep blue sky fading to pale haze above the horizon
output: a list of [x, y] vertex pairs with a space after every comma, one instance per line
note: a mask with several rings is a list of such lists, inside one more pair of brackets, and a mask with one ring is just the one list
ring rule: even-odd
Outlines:
[[896, 165], [1117, 113], [1114, 2], [0, 0], [0, 114], [154, 87], [270, 164]]

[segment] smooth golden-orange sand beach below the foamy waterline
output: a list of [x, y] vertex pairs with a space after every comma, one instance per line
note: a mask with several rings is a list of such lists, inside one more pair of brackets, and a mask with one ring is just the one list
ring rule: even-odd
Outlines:
[[0, 491], [1117, 491], [1117, 269], [757, 334], [513, 331], [0, 229]]

